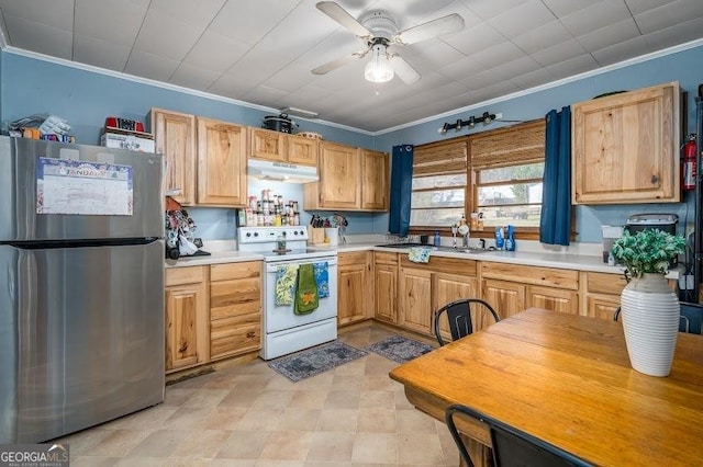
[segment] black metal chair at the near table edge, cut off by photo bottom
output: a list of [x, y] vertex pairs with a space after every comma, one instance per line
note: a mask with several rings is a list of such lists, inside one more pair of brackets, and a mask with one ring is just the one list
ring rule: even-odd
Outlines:
[[473, 467], [469, 452], [456, 426], [456, 414], [486, 423], [491, 435], [494, 467], [588, 467], [588, 462], [514, 426], [461, 405], [445, 411], [445, 422], [467, 466]]

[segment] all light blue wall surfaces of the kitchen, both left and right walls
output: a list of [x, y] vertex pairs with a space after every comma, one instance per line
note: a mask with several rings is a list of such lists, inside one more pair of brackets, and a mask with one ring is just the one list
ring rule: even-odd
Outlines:
[[[667, 81], [679, 81], [690, 91], [688, 98], [688, 132], [695, 132], [694, 94], [703, 81], [703, 46], [673, 53], [627, 67], [613, 69], [596, 76], [585, 76], [527, 95], [507, 95], [487, 105], [461, 109], [440, 117], [408, 128], [390, 130], [381, 135], [330, 126], [312, 121], [297, 119], [301, 130], [319, 132], [325, 139], [342, 144], [375, 148], [390, 152], [393, 145], [424, 144], [469, 134], [437, 133], [445, 122], [455, 122], [484, 111], [502, 113], [503, 119], [529, 121], [542, 118], [550, 109], [560, 109], [594, 95], [615, 91], [633, 90]], [[126, 77], [125, 77], [126, 78]], [[144, 121], [150, 107], [163, 107], [196, 115], [219, 118], [249, 126], [259, 126], [263, 117], [276, 114], [276, 110], [249, 107], [233, 101], [193, 95], [176, 89], [152, 86], [145, 82], [122, 79], [112, 75], [92, 72], [70, 66], [58, 65], [16, 55], [0, 53], [0, 118], [2, 122], [34, 113], [52, 113], [69, 121], [79, 143], [98, 144], [104, 118], [110, 115]], [[493, 122], [487, 127], [478, 126], [472, 132], [496, 128], [507, 123]], [[249, 193], [260, 195], [264, 187], [283, 194], [284, 200], [302, 201], [302, 185], [266, 183], [249, 179]], [[674, 213], [681, 224], [693, 217], [693, 196], [688, 203], [622, 206], [578, 206], [576, 209], [577, 240], [601, 241], [601, 225], [622, 225], [627, 216], [636, 213]], [[204, 239], [233, 238], [235, 213], [233, 209], [191, 208], [198, 224], [199, 235]], [[302, 223], [308, 223], [312, 213], [303, 213]], [[325, 213], [321, 213], [324, 215]], [[384, 234], [388, 215], [349, 214], [349, 234]]]

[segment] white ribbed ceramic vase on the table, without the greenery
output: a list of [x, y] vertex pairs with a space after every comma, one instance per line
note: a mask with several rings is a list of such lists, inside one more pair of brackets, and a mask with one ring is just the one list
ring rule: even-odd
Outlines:
[[629, 363], [651, 376], [668, 376], [679, 335], [679, 299], [663, 274], [633, 278], [621, 295]]

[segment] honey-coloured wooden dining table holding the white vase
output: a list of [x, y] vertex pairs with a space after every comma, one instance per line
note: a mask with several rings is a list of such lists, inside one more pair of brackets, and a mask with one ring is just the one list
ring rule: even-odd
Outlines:
[[[703, 466], [703, 335], [679, 333], [670, 375], [655, 377], [629, 365], [620, 322], [529, 308], [390, 377], [438, 420], [462, 403], [594, 465]], [[488, 463], [487, 426], [459, 428]]]

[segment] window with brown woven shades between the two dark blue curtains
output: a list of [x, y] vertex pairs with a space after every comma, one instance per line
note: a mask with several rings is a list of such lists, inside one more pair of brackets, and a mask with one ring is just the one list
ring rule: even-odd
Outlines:
[[462, 215], [469, 221], [470, 213], [482, 213], [484, 231], [511, 224], [536, 237], [544, 158], [542, 118], [416, 146], [411, 231], [448, 231]]

